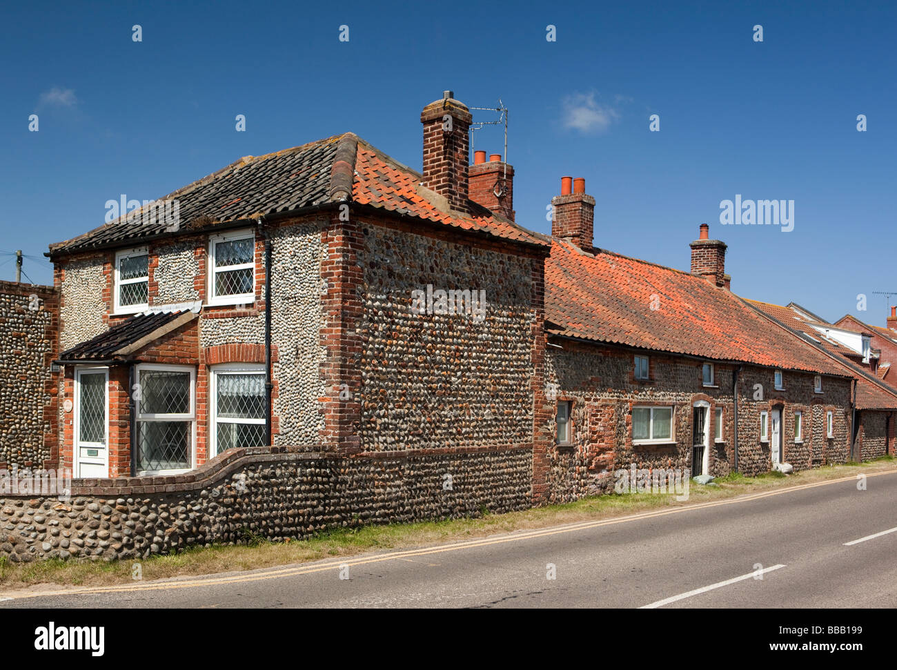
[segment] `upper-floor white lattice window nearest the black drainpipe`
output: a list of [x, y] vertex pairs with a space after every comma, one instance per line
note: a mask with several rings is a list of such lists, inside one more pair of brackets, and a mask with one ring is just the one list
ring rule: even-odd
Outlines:
[[256, 234], [227, 232], [209, 238], [210, 305], [239, 305], [256, 300]]

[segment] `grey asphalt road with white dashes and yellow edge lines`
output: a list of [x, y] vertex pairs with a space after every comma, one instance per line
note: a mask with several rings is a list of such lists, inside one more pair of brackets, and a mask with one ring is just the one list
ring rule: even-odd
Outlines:
[[897, 473], [870, 475], [866, 491], [851, 479], [458, 544], [0, 601], [0, 608], [644, 606], [897, 607]]

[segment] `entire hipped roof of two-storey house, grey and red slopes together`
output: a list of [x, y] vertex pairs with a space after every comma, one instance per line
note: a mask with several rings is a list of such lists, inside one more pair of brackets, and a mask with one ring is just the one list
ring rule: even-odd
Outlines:
[[121, 216], [76, 238], [50, 245], [50, 255], [126, 247], [135, 241], [175, 237], [222, 223], [255, 222], [274, 213], [346, 202], [350, 196], [354, 202], [390, 212], [549, 247], [544, 235], [495, 216], [472, 201], [469, 214], [448, 210], [444, 198], [419, 186], [421, 180], [420, 173], [357, 135], [334, 135], [264, 156], [246, 156], [160, 198], [179, 204], [179, 227], [175, 231], [169, 230], [167, 222], [140, 220], [136, 211], [131, 218]]

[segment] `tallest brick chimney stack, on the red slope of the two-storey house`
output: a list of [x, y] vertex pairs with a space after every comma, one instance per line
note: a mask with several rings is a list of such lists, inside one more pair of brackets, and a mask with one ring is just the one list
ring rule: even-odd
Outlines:
[[444, 196], [452, 209], [467, 212], [467, 129], [473, 117], [454, 96], [443, 91], [441, 100], [421, 112], [423, 186]]

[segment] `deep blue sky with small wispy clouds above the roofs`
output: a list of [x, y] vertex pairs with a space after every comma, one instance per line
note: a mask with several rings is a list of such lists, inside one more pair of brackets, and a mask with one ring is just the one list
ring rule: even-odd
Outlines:
[[[6, 4], [0, 251], [22, 248], [30, 278], [52, 283], [48, 244], [100, 225], [107, 200], [347, 130], [419, 170], [420, 110], [450, 89], [510, 109], [528, 228], [549, 231], [561, 177], [584, 177], [597, 246], [687, 270], [708, 222], [737, 293], [884, 326], [872, 291], [897, 291], [897, 9], [780, 5]], [[475, 144], [501, 152], [501, 132]], [[722, 226], [736, 194], [794, 200], [794, 230]]]

